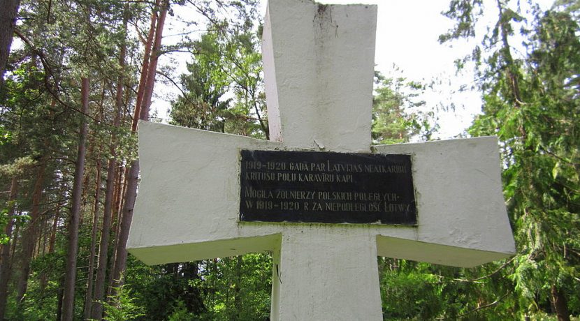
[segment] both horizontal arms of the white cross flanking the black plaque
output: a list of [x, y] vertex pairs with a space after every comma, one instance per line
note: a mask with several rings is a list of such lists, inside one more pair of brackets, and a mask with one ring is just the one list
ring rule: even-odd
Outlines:
[[[140, 122], [141, 182], [128, 248], [147, 264], [161, 264], [272, 251], [276, 238], [268, 235], [328, 230], [345, 237], [371, 234], [413, 241], [403, 249], [379, 241], [382, 256], [457, 266], [488, 262], [469, 251], [507, 257], [514, 253], [514, 241], [501, 194], [496, 143], [495, 137], [479, 137], [375, 147], [379, 153], [412, 155], [417, 227], [240, 223], [240, 149], [286, 148], [249, 137]], [[428, 244], [452, 247], [459, 258], [433, 253]], [[412, 247], [413, 254], [405, 256]]]

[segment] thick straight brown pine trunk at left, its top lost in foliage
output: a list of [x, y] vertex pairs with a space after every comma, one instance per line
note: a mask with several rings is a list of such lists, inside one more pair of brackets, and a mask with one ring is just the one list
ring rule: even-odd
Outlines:
[[[89, 79], [82, 78], [81, 87], [82, 113], [89, 112]], [[61, 320], [73, 320], [75, 303], [75, 281], [78, 253], [78, 225], [80, 221], [80, 207], [82, 197], [82, 177], [85, 172], [85, 154], [87, 143], [88, 124], [85, 117], [80, 126], [78, 154], [75, 164], [73, 183], [71, 219], [68, 223], [68, 251], [66, 255], [66, 272], [64, 276], [64, 298], [62, 302]]]

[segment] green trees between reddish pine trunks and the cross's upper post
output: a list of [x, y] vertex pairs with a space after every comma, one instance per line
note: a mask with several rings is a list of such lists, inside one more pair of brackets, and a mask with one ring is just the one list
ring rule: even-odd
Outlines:
[[247, 16], [255, 13], [241, 12], [243, 24], [223, 22], [191, 44], [196, 54], [181, 76], [183, 94], [172, 104], [170, 124], [268, 136], [260, 40]]

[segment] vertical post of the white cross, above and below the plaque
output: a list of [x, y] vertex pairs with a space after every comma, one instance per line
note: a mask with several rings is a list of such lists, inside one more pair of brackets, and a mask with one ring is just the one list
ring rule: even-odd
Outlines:
[[[273, 140], [370, 152], [376, 24], [377, 6], [268, 3], [262, 52]], [[375, 238], [328, 226], [282, 234], [272, 320], [382, 319]]]

